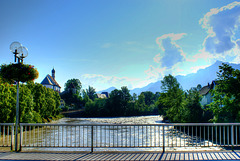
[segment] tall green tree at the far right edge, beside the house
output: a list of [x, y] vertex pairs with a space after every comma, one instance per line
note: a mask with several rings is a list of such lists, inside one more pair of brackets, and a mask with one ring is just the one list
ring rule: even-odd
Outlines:
[[213, 102], [208, 110], [213, 112], [213, 122], [240, 121], [240, 71], [228, 64], [219, 66]]

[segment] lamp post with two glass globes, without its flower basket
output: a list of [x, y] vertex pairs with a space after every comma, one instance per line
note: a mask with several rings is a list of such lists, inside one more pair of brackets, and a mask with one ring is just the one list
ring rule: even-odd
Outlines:
[[[23, 63], [23, 58], [28, 56], [28, 49], [19, 42], [10, 45], [10, 51], [14, 54], [14, 62]], [[17, 81], [17, 102], [16, 102], [16, 129], [15, 129], [15, 151], [18, 151], [18, 126], [19, 126], [19, 80]]]

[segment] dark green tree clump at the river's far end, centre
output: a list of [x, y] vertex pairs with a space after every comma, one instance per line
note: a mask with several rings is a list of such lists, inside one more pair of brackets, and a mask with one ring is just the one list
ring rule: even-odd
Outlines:
[[[154, 94], [153, 94], [154, 95]], [[131, 96], [127, 87], [115, 89], [110, 93], [108, 99], [89, 99], [86, 103], [85, 112], [87, 116], [136, 116], [149, 114], [154, 109], [154, 103], [150, 106], [145, 104], [145, 96]]]

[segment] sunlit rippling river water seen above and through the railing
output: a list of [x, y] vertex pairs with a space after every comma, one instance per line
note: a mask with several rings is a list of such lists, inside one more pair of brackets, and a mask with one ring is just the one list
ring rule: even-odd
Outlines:
[[[101, 124], [101, 127], [94, 127], [94, 144], [105, 148], [94, 148], [94, 151], [162, 151], [162, 126], [147, 126], [152, 124], [162, 123], [162, 117], [159, 115], [154, 116], [136, 116], [136, 117], [114, 117], [114, 118], [62, 118], [52, 124], [75, 124], [75, 125], [86, 125], [86, 126], [61, 126], [46, 128], [40, 132], [39, 135], [43, 137], [33, 138], [38, 140], [37, 144], [45, 145], [62, 145], [69, 146], [71, 148], [31, 148], [31, 150], [38, 151], [90, 151], [89, 147], [91, 144], [91, 124]], [[104, 126], [106, 124], [106, 126]], [[114, 126], [115, 124], [122, 125], [119, 127]], [[144, 124], [146, 126], [124, 126]], [[113, 125], [113, 126], [110, 126]], [[43, 129], [42, 129], [43, 130]], [[166, 133], [169, 132], [169, 137], [166, 138], [166, 142], [171, 144], [185, 144], [185, 142], [193, 142], [193, 139], [186, 134], [178, 133], [176, 129], [169, 127]], [[170, 132], [172, 135], [170, 135]], [[165, 134], [166, 135], [166, 134]], [[172, 138], [175, 139], [172, 139]], [[27, 138], [27, 137], [26, 137]], [[56, 138], [56, 139], [55, 139]], [[58, 139], [57, 139], [58, 138]], [[141, 139], [139, 139], [141, 138]], [[168, 139], [168, 140], [167, 140]], [[82, 140], [82, 142], [80, 141]], [[190, 141], [191, 140], [191, 141]], [[33, 141], [34, 144], [35, 141]], [[23, 139], [24, 144], [24, 139]], [[36, 142], [35, 142], [36, 144]], [[205, 144], [205, 143], [204, 143]], [[31, 144], [32, 145], [32, 144]], [[155, 147], [152, 148], [151, 146]], [[123, 148], [116, 148], [116, 146], [122, 146]], [[131, 147], [134, 146], [134, 147]], [[148, 148], [142, 148], [146, 146]], [[76, 147], [76, 148], [72, 148]], [[85, 147], [85, 148], [77, 148]], [[111, 148], [108, 148], [111, 147]], [[128, 148], [126, 148], [128, 147]], [[130, 148], [129, 148], [130, 147]], [[136, 148], [137, 147], [137, 148]], [[29, 150], [29, 148], [24, 148]], [[187, 147], [187, 148], [168, 148], [168, 150], [220, 150], [220, 148], [207, 147]]]

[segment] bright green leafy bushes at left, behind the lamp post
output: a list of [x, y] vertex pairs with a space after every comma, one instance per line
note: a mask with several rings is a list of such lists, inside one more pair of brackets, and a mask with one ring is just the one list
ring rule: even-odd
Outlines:
[[[15, 122], [16, 85], [0, 82], [1, 122]], [[60, 96], [53, 89], [29, 82], [19, 87], [20, 122], [42, 123], [59, 117]]]

